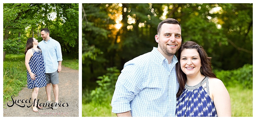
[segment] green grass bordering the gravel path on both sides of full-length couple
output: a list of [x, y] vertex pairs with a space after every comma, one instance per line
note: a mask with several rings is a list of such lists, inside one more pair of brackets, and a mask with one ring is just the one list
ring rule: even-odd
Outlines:
[[[77, 57], [62, 56], [62, 65], [78, 70]], [[11, 100], [11, 96], [17, 96], [27, 84], [27, 68], [25, 66], [25, 55], [8, 54], [3, 62], [3, 104]]]

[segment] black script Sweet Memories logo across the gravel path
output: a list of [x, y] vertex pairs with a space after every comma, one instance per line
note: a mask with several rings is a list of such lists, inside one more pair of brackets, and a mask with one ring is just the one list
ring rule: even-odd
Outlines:
[[[12, 95], [12, 96], [14, 96], [14, 95]], [[10, 102], [10, 103], [9, 103]], [[7, 106], [8, 107], [12, 107], [14, 104], [16, 104], [16, 105], [18, 105], [18, 106], [20, 106], [20, 107], [22, 107], [22, 108], [24, 108], [26, 105], [25, 105], [25, 103], [27, 103], [28, 105], [27, 105], [27, 107], [29, 108], [29, 107], [31, 107], [31, 106], [36, 106], [37, 108], [38, 108], [38, 106], [39, 107], [46, 107], [46, 108], [41, 108], [41, 109], [48, 109], [48, 108], [52, 108], [52, 107], [54, 107], [54, 106], [59, 106], [59, 107], [68, 107], [68, 103], [61, 103], [61, 101], [60, 101], [60, 103], [58, 103], [58, 104], [54, 104], [54, 103], [40, 103], [39, 102], [39, 99], [36, 101], [36, 99], [35, 100], [32, 100], [32, 98], [30, 98], [30, 99], [27, 99], [27, 100], [25, 100], [25, 99], [19, 99], [19, 100], [14, 100], [13, 98], [12, 98], [12, 101], [9, 101], [9, 102], [7, 102]], [[12, 102], [12, 103], [11, 103]], [[40, 109], [40, 108], [39, 108]], [[52, 108], [53, 109], [53, 108]]]

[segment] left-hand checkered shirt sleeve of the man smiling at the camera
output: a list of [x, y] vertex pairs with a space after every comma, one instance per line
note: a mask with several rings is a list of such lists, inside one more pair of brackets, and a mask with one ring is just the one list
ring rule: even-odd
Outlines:
[[135, 64], [126, 64], [116, 81], [115, 92], [111, 101], [113, 113], [131, 110], [130, 102], [142, 90], [142, 73]]

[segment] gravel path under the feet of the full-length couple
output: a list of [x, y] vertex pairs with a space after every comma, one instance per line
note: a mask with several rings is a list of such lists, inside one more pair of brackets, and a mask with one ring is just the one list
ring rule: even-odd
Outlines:
[[[26, 103], [25, 100], [31, 98], [32, 89], [28, 89], [24, 87], [18, 96], [13, 97], [13, 100], [23, 100], [23, 103], [19, 101], [17, 104], [13, 104], [12, 101], [8, 102], [8, 105], [12, 107], [8, 107], [7, 104], [4, 105], [3, 116], [11, 116], [11, 117], [25, 117], [25, 116], [33, 116], [33, 117], [41, 117], [41, 116], [49, 116], [49, 117], [62, 117], [62, 116], [79, 116], [79, 85], [78, 85], [78, 70], [73, 70], [67, 67], [61, 68], [59, 73], [59, 103], [61, 103], [61, 107], [59, 106], [57, 109], [51, 109], [47, 107], [47, 109], [38, 109], [38, 112], [34, 112], [32, 107], [27, 107], [32, 104]], [[37, 99], [39, 99], [38, 103], [43, 103], [47, 100], [45, 87], [39, 88]], [[51, 99], [54, 102], [54, 94], [51, 91]], [[32, 101], [32, 100], [31, 100]], [[64, 103], [64, 104], [63, 104]], [[68, 106], [67, 106], [68, 104]], [[64, 107], [63, 107], [64, 106]], [[43, 107], [45, 108], [45, 107]]]

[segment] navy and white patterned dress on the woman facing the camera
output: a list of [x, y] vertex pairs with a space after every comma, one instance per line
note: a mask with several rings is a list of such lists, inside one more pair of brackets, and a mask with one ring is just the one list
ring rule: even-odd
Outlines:
[[[180, 97], [177, 98], [176, 116], [216, 116], [217, 112], [212, 99], [209, 96], [208, 78], [204, 79], [195, 86], [188, 86], [185, 84], [185, 88]], [[207, 92], [203, 88], [203, 84], [206, 82]]]

